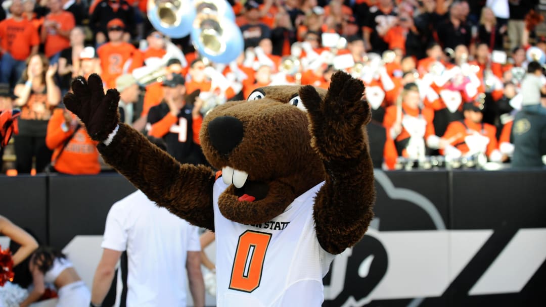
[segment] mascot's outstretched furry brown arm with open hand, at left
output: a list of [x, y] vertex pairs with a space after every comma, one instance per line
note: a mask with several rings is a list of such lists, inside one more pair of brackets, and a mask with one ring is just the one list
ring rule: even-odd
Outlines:
[[[214, 172], [205, 166], [180, 164], [126, 124], [119, 124], [116, 89], [104, 94], [96, 74], [72, 82], [64, 97], [67, 109], [85, 124], [104, 160], [123, 174], [151, 201], [193, 225], [214, 228], [212, 186]], [[119, 127], [108, 146], [103, 142]], [[112, 134], [113, 135], [113, 134]]]

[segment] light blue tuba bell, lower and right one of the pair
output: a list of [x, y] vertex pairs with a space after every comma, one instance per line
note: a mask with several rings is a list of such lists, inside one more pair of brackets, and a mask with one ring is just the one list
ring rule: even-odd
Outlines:
[[225, 0], [198, 0], [194, 8], [191, 38], [199, 55], [223, 64], [239, 57], [244, 50], [244, 39], [230, 5]]

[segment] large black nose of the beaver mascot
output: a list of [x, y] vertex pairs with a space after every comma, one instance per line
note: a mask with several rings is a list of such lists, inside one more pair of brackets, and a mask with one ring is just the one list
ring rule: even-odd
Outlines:
[[242, 122], [233, 116], [220, 116], [209, 123], [209, 138], [212, 146], [227, 155], [242, 140]]

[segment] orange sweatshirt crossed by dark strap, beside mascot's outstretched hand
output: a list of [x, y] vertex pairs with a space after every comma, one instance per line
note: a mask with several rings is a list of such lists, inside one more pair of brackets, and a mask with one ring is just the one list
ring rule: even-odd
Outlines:
[[70, 111], [57, 108], [48, 123], [45, 143], [53, 152], [51, 166], [64, 174], [98, 174], [99, 152], [84, 125]]

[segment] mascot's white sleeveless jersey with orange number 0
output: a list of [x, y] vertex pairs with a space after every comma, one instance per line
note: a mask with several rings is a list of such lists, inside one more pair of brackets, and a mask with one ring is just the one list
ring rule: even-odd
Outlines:
[[322, 249], [314, 229], [314, 196], [323, 183], [294, 200], [281, 215], [259, 225], [230, 221], [220, 213], [214, 185], [217, 305], [320, 306], [322, 279], [335, 255]]

